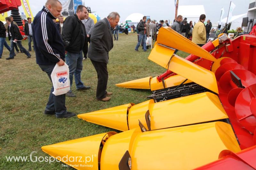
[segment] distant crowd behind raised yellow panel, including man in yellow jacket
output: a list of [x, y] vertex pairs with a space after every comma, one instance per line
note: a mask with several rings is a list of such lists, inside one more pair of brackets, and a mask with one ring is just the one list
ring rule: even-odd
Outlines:
[[192, 37], [192, 42], [202, 47], [208, 41], [212, 29], [210, 20], [207, 20], [207, 24], [204, 25], [205, 18], [205, 14], [200, 15], [199, 21], [193, 26], [192, 21], [188, 23], [187, 18], [184, 18], [183, 20], [183, 17], [178, 15], [171, 26], [167, 20], [160, 20], [159, 23], [156, 23], [155, 20], [151, 21], [150, 18], [147, 19], [147, 17], [144, 16], [135, 28], [138, 34], [138, 43], [135, 47], [135, 51], [139, 51], [140, 45], [142, 46], [143, 51], [147, 51], [146, 38], [151, 37], [152, 40], [156, 40], [157, 32], [162, 26], [168, 26], [188, 39]]

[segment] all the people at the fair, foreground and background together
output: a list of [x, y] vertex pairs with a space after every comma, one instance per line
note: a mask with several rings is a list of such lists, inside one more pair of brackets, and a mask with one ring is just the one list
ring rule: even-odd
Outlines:
[[[67, 63], [69, 67], [70, 88], [73, 85], [73, 77], [75, 79], [76, 90], [87, 90], [90, 86], [84, 85], [81, 80], [81, 71], [83, 70], [83, 60], [87, 57], [91, 60], [97, 76], [98, 84], [96, 90], [96, 99], [101, 101], [108, 101], [111, 99], [112, 92], [107, 92], [108, 83], [108, 53], [113, 48], [113, 34], [114, 40], [118, 41], [118, 32], [120, 26], [118, 25], [120, 15], [117, 12], [111, 12], [107, 18], [98, 21], [94, 25], [94, 21], [89, 17], [87, 8], [79, 5], [74, 15], [68, 16], [65, 21], [64, 17], [60, 15], [62, 5], [58, 0], [47, 0], [45, 6], [37, 13], [33, 24], [31, 18], [27, 18], [24, 32], [28, 37], [28, 50], [22, 44], [23, 39], [20, 34], [17, 23], [13, 21], [12, 17], [5, 18], [6, 25], [0, 22], [0, 58], [3, 53], [3, 46], [10, 51], [10, 56], [7, 60], [13, 59], [16, 52], [20, 52], [31, 57], [29, 51], [32, 50], [31, 42], [33, 41], [33, 49], [36, 54], [36, 63], [42, 71], [46, 72], [49, 79], [56, 64], [59, 66]], [[56, 19], [59, 19], [56, 22]], [[162, 26], [169, 26], [176, 32], [188, 38], [188, 34], [193, 29], [192, 41], [197, 45], [202, 46], [208, 39], [208, 30], [211, 30], [211, 22], [207, 21], [204, 26], [206, 16], [202, 14], [200, 21], [193, 26], [192, 21], [188, 24], [187, 18], [183, 20], [181, 15], [177, 16], [172, 26], [167, 20], [160, 20], [157, 23], [155, 20], [147, 19], [144, 16], [139, 24], [135, 27], [132, 25], [133, 31], [138, 34], [138, 43], [135, 51], [139, 51], [140, 45], [143, 51], [147, 51], [146, 38], [151, 37], [152, 40], [157, 39], [157, 31]], [[128, 34], [129, 24], [125, 24], [125, 33]], [[5, 41], [6, 30], [8, 38], [11, 40], [10, 47]], [[208, 35], [208, 36], [207, 36]], [[88, 48], [88, 43], [90, 46]], [[69, 118], [74, 116], [74, 113], [68, 112], [65, 106], [66, 96], [76, 97], [70, 90], [66, 94], [55, 96], [52, 94], [54, 88], [52, 86], [49, 100], [46, 104], [44, 114], [56, 115], [57, 118]]]

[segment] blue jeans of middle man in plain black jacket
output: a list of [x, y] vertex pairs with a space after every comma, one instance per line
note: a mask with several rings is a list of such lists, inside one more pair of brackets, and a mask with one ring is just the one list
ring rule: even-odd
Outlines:
[[66, 63], [69, 67], [70, 89], [73, 84], [73, 74], [75, 75], [76, 89], [82, 89], [84, 87], [84, 83], [81, 81], [81, 71], [83, 70], [83, 50], [81, 50], [79, 54], [67, 52]]

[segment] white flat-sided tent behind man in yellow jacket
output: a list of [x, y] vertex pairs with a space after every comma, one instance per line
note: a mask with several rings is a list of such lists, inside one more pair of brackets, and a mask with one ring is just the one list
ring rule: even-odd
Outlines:
[[205, 14], [204, 5], [180, 5], [178, 8], [178, 15], [182, 15], [183, 19], [187, 18], [188, 23], [192, 21], [193, 25], [199, 21], [201, 14]]

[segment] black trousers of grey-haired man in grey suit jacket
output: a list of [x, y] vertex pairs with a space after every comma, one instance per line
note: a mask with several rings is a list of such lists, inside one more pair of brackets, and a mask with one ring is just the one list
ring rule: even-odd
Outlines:
[[94, 66], [97, 76], [98, 76], [98, 85], [96, 91], [96, 98], [103, 99], [107, 94], [107, 84], [108, 84], [108, 69], [107, 63], [97, 62], [91, 60], [92, 65]]

